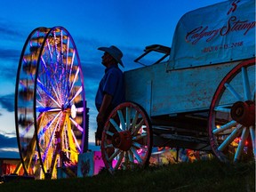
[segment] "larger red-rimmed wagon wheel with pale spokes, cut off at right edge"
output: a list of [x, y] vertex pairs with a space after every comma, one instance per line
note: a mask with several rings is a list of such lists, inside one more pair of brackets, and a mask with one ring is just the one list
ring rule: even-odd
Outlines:
[[255, 159], [255, 59], [240, 63], [220, 82], [208, 128], [213, 153], [221, 161]]

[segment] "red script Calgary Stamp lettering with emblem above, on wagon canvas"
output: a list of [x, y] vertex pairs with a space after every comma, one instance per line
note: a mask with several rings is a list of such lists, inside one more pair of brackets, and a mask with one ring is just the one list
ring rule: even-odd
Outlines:
[[[235, 12], [237, 9], [237, 4], [240, 1], [234, 1], [231, 4], [231, 8], [228, 10], [229, 14], [230, 12]], [[212, 39], [215, 36], [227, 36], [231, 32], [237, 32], [244, 30], [244, 36], [252, 29], [255, 28], [256, 22], [255, 21], [249, 21], [249, 20], [239, 20], [236, 16], [231, 16], [228, 19], [228, 22], [226, 25], [224, 25], [222, 28], [217, 29], [211, 29], [209, 26], [201, 26], [198, 28], [194, 28], [190, 32], [188, 32], [186, 36], [186, 42], [191, 44], [196, 44], [201, 39], [206, 38], [206, 42], [212, 41]]]

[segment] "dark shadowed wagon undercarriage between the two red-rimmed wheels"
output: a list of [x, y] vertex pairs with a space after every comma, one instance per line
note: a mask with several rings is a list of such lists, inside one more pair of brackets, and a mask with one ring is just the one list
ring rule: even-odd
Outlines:
[[207, 111], [152, 117], [154, 147], [211, 150], [208, 139]]

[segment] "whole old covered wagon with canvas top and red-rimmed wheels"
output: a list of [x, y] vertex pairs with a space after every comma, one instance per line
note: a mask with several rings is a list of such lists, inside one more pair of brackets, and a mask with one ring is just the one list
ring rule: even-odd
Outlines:
[[160, 60], [124, 72], [127, 102], [102, 135], [110, 172], [148, 164], [153, 147], [210, 151], [221, 161], [255, 157], [254, 7], [227, 1], [188, 12], [172, 48], [149, 45], [135, 61], [151, 52]]

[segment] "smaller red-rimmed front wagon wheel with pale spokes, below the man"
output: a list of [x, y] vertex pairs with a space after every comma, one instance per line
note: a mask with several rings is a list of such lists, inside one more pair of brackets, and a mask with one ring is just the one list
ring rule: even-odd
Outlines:
[[124, 102], [108, 116], [102, 134], [101, 153], [109, 172], [143, 167], [152, 150], [152, 130], [146, 112], [139, 105]]

